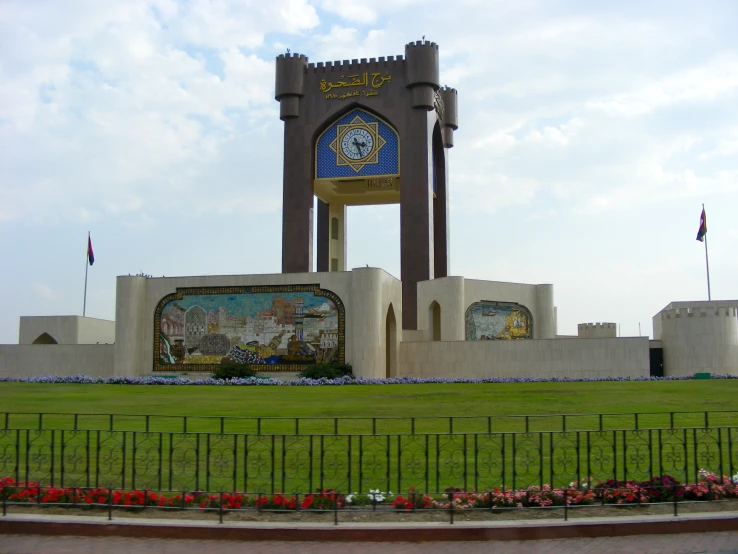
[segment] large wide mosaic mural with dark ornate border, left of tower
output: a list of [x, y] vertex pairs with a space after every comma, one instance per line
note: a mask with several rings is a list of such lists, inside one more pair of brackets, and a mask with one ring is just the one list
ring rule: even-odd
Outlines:
[[344, 306], [317, 285], [177, 289], [154, 315], [155, 371], [344, 362]]

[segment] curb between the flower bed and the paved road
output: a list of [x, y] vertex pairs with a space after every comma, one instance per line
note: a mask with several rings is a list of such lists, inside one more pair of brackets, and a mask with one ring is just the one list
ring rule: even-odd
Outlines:
[[113, 520], [84, 516], [8, 515], [0, 517], [0, 535], [120, 536], [158, 539], [231, 541], [508, 541], [667, 535], [738, 531], [738, 513], [688, 516], [458, 522], [424, 524], [342, 523], [340, 526], [295, 523], [223, 523], [181, 520]]

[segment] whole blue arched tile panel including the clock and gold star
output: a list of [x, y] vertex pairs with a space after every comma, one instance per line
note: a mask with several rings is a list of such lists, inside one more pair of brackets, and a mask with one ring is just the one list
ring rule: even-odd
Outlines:
[[398, 175], [399, 139], [387, 123], [361, 109], [341, 117], [316, 144], [316, 179]]

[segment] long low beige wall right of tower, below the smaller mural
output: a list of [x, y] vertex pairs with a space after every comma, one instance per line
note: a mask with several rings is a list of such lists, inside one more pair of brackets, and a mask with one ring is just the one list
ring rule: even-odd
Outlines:
[[405, 342], [407, 377], [645, 377], [648, 338]]

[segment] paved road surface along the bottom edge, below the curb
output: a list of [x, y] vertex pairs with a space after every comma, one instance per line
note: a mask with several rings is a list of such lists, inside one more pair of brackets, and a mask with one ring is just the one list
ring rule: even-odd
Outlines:
[[356, 543], [234, 542], [120, 537], [42, 537], [0, 535], [0, 554], [738, 554], [738, 531], [683, 535], [639, 535], [541, 541]]

